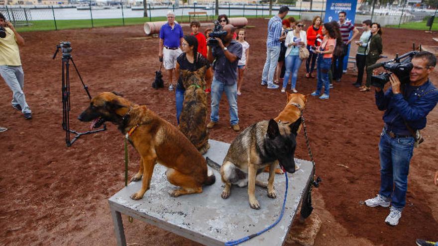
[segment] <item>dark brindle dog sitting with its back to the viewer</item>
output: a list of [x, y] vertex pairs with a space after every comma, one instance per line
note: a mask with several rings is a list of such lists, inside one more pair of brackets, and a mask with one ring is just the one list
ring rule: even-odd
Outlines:
[[180, 115], [179, 129], [203, 155], [208, 149], [209, 132], [206, 126], [207, 95], [204, 90], [206, 68], [195, 72], [181, 70], [184, 87], [184, 103]]

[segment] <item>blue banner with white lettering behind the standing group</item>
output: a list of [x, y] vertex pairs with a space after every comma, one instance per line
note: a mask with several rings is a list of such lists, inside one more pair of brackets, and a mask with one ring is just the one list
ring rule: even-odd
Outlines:
[[[345, 11], [347, 13], [345, 17], [346, 22], [351, 22], [354, 25], [354, 17], [356, 16], [356, 0], [327, 0], [326, 13], [324, 15], [324, 22], [330, 22], [332, 20], [339, 20], [339, 12]], [[351, 38], [352, 32], [350, 32], [349, 38]], [[354, 44], [354, 42], [353, 42]], [[348, 53], [350, 53], [350, 45], [348, 45]], [[354, 55], [355, 57], [355, 55]], [[344, 57], [343, 71], [347, 71], [348, 56]]]

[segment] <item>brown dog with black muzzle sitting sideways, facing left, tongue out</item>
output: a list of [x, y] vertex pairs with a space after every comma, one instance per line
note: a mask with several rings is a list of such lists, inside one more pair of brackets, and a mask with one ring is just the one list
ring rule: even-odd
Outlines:
[[146, 106], [131, 103], [113, 92], [103, 92], [93, 97], [90, 106], [78, 119], [92, 121], [95, 128], [105, 121], [118, 125], [120, 132], [140, 154], [140, 170], [131, 181], [138, 181], [143, 176], [143, 182], [141, 189], [131, 195], [134, 200], [141, 199], [149, 189], [157, 162], [168, 167], [167, 180], [181, 187], [169, 192], [171, 196], [201, 193], [203, 185], [215, 183], [215, 175], [208, 171], [206, 160], [192, 143], [175, 126]]

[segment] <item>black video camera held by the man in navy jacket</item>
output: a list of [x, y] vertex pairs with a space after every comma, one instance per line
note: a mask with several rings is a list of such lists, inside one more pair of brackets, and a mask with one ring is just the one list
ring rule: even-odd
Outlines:
[[371, 85], [379, 88], [383, 88], [387, 82], [389, 82], [389, 78], [391, 74], [395, 74], [397, 78], [399, 78], [401, 84], [409, 83], [409, 74], [411, 70], [414, 68], [411, 60], [418, 51], [410, 51], [401, 56], [396, 55], [396, 57], [392, 60], [376, 63], [367, 68], [367, 71], [372, 71], [376, 68], [383, 67], [388, 72], [383, 72], [378, 75], [371, 76]]

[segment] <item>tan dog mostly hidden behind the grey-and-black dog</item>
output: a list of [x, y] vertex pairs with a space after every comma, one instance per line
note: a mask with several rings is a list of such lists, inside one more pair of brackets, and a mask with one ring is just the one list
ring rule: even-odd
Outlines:
[[[289, 92], [286, 92], [286, 94], [287, 94], [287, 101], [286, 101], [287, 104], [284, 107], [283, 111], [281, 111], [280, 114], [276, 118], [274, 118], [274, 120], [277, 123], [290, 125], [301, 117], [300, 109], [295, 104], [300, 105], [301, 110], [304, 110], [305, 104], [307, 102], [307, 95], [303, 95], [299, 93], [289, 93]], [[300, 130], [301, 130], [301, 125], [300, 128], [298, 129], [298, 133], [300, 132]], [[269, 166], [267, 166], [264, 171], [269, 172]], [[276, 168], [275, 173], [283, 174], [284, 172], [282, 169]]]

